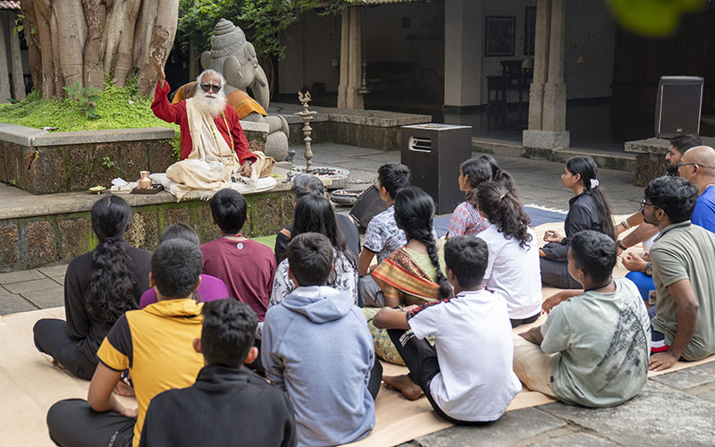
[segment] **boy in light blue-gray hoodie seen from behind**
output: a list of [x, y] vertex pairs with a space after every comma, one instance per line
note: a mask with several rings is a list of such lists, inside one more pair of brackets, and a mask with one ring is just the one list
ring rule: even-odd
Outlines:
[[299, 234], [287, 255], [296, 289], [265, 314], [265, 375], [288, 392], [299, 445], [352, 443], [374, 427], [383, 372], [373, 338], [353, 298], [324, 285], [332, 271], [328, 238]]

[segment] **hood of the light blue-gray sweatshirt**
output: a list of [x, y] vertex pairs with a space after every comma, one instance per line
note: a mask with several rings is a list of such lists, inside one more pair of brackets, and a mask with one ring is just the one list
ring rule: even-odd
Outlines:
[[337, 320], [348, 314], [353, 299], [347, 293], [327, 286], [299, 287], [282, 302], [285, 308], [307, 316], [317, 324]]

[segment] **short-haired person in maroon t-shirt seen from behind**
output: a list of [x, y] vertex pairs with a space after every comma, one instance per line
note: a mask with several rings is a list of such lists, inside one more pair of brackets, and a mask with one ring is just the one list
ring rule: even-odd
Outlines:
[[263, 321], [273, 291], [273, 251], [240, 234], [247, 221], [248, 205], [239, 191], [219, 190], [208, 205], [221, 236], [201, 245], [203, 273], [223, 280], [231, 297], [248, 304], [258, 321]]

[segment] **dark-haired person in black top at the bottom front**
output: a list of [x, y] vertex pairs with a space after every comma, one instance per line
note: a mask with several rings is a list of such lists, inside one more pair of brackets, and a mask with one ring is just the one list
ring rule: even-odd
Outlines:
[[256, 313], [234, 299], [221, 299], [206, 303], [201, 315], [204, 325], [194, 349], [204, 355], [206, 367], [196, 384], [151, 400], [139, 446], [295, 445], [288, 396], [241, 367], [258, 355]]

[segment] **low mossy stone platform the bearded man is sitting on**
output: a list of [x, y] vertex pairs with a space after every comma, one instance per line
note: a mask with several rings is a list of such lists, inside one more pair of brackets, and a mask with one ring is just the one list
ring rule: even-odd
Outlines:
[[[273, 190], [246, 194], [247, 237], [268, 236], [290, 223], [293, 206], [290, 183]], [[105, 192], [105, 194], [109, 194]], [[176, 202], [172, 194], [121, 194], [129, 202], [133, 219], [127, 241], [140, 249], [156, 249], [159, 235], [172, 223], [189, 223], [202, 242], [219, 234], [205, 200]], [[0, 183], [0, 273], [69, 262], [97, 244], [90, 210], [97, 200], [88, 192], [33, 196]]]

